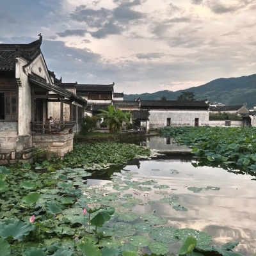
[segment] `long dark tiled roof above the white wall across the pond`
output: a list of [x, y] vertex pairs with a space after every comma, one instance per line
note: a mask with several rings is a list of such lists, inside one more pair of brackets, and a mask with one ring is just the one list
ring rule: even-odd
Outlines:
[[176, 108], [176, 107], [199, 107], [199, 108], [208, 108], [208, 104], [204, 101], [199, 100], [141, 100], [141, 108], [150, 108], [150, 107], [159, 107], [159, 108]]

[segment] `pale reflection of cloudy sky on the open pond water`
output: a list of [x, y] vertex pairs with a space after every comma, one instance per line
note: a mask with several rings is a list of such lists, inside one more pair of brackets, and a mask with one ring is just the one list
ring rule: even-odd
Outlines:
[[[214, 239], [213, 244], [237, 241], [239, 242], [236, 247], [237, 252], [244, 255], [253, 255], [256, 252], [256, 181], [252, 180], [252, 176], [236, 175], [221, 168], [207, 166], [194, 168], [191, 163], [180, 162], [179, 159], [140, 161], [140, 168], [136, 165], [127, 165], [124, 169], [126, 171], [122, 172], [138, 172], [133, 175], [133, 180], [153, 179], [157, 181], [157, 185], [170, 186], [169, 189], [161, 190], [168, 191], [168, 197], [179, 196], [177, 202], [188, 208], [187, 212], [175, 211], [171, 205], [159, 202], [164, 195], [157, 195], [152, 189], [148, 196], [140, 196], [140, 198], [145, 202], [154, 200], [156, 203], [137, 205], [132, 211], [143, 214], [156, 210], [157, 215], [168, 218], [168, 225], [207, 232]], [[95, 184], [95, 180], [91, 182]], [[106, 184], [106, 180], [97, 180], [96, 183]], [[192, 186], [197, 188], [217, 186], [221, 189], [194, 193], [188, 190], [188, 187]], [[134, 191], [135, 189], [121, 191], [121, 195]]]

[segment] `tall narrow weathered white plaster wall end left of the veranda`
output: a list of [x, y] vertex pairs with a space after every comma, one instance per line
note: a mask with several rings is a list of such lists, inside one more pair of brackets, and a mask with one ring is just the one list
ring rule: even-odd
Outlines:
[[31, 86], [28, 81], [27, 74], [23, 71], [23, 66], [26, 61], [22, 58], [17, 58], [16, 62], [16, 78], [20, 79], [18, 95], [18, 135], [23, 136], [31, 134]]

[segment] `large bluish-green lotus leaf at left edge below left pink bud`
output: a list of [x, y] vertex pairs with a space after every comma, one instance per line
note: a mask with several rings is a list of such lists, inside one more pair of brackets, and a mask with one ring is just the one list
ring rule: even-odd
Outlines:
[[27, 236], [31, 230], [36, 227], [31, 223], [25, 223], [23, 221], [4, 221], [0, 223], [0, 236], [2, 238], [10, 238], [18, 241], [23, 240], [23, 236]]

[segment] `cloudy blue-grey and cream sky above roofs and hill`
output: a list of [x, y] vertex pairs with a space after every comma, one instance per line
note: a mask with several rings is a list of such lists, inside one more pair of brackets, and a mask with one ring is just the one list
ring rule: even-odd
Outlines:
[[256, 73], [256, 0], [1, 0], [1, 44], [39, 33], [63, 83], [175, 92]]

